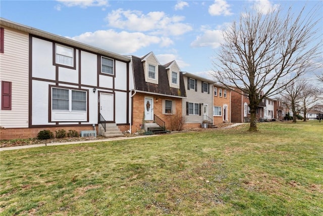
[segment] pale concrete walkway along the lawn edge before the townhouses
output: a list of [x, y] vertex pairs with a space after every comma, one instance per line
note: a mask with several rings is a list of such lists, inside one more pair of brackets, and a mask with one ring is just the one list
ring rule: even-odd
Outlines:
[[[240, 124], [243, 124], [243, 123], [232, 124], [227, 127], [224, 127], [224, 129], [235, 127]], [[35, 148], [35, 147], [42, 147], [42, 146], [59, 146], [59, 145], [79, 144], [79, 143], [109, 142], [109, 141], [115, 141], [115, 140], [129, 140], [129, 139], [154, 137], [154, 136], [159, 136], [159, 135], [147, 135], [147, 136], [137, 136], [137, 137], [113, 137], [113, 138], [109, 138], [109, 139], [105, 139], [105, 140], [84, 140], [84, 141], [73, 141], [73, 142], [62, 142], [62, 143], [46, 143], [46, 144], [36, 144], [36, 145], [26, 145], [26, 146], [13, 146], [13, 147], [0, 148], [0, 151], [27, 149], [27, 148]]]

